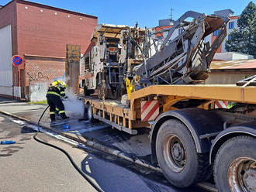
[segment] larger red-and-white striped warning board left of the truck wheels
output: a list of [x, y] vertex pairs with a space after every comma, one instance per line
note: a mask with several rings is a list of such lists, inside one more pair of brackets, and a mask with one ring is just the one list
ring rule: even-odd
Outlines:
[[141, 101], [141, 121], [154, 121], [159, 115], [158, 101]]

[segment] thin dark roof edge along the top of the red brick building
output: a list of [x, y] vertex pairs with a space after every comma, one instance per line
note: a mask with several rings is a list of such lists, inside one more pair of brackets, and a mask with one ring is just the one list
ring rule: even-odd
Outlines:
[[[81, 13], [81, 12], [73, 12], [73, 11], [69, 11], [67, 9], [60, 9], [60, 8], [52, 7], [52, 6], [49, 6], [49, 5], [43, 5], [43, 4], [40, 4], [40, 3], [28, 2], [28, 1], [24, 1], [24, 0], [12, 0], [11, 2], [7, 3], [6, 5], [9, 5], [12, 2], [17, 2], [17, 3], [22, 3], [22, 4], [25, 4], [25, 5], [32, 5], [32, 6], [36, 6], [36, 7], [40, 7], [40, 8], [44, 8], [44, 9], [52, 9], [52, 10], [56, 10], [56, 11], [59, 11], [59, 12], [66, 12], [66, 13], [73, 14], [73, 15], [80, 15], [80, 16], [84, 16], [84, 17], [90, 17], [90, 18], [98, 19], [98, 17], [94, 16], [94, 15], [87, 15], [87, 14], [84, 14], [84, 13]], [[2, 8], [4, 8], [6, 5], [2, 6]]]

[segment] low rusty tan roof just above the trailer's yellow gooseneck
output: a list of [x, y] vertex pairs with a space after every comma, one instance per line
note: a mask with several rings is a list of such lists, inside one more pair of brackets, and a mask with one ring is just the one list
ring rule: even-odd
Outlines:
[[256, 60], [214, 60], [211, 70], [256, 70]]

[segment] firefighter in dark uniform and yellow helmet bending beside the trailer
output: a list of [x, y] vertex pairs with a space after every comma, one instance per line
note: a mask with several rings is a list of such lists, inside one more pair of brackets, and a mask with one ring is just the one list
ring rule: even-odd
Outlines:
[[51, 122], [55, 121], [55, 109], [59, 109], [59, 115], [61, 118], [68, 118], [65, 114], [64, 105], [61, 101], [61, 81], [54, 81], [50, 84], [50, 87], [47, 91], [47, 103], [50, 106], [50, 120]]

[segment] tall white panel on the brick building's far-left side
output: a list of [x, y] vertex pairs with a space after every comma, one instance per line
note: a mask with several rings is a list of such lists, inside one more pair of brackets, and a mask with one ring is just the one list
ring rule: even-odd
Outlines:
[[12, 29], [0, 29], [0, 94], [12, 95]]

